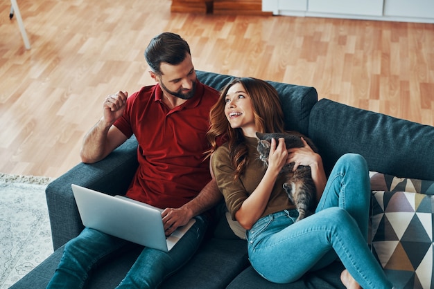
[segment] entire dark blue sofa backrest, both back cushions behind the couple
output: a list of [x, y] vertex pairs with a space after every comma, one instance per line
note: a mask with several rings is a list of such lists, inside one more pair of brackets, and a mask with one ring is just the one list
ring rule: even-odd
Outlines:
[[[196, 71], [220, 91], [234, 76]], [[371, 171], [434, 180], [434, 127], [322, 99], [315, 88], [269, 82], [277, 89], [286, 129], [309, 136], [327, 174], [344, 153], [360, 153]]]

